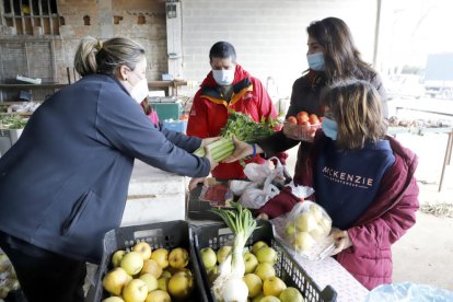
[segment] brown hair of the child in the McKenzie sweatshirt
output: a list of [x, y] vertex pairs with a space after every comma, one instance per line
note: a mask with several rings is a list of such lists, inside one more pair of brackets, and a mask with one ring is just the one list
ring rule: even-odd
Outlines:
[[321, 103], [338, 125], [339, 148], [360, 149], [385, 137], [381, 96], [371, 83], [357, 79], [336, 82], [323, 92]]

